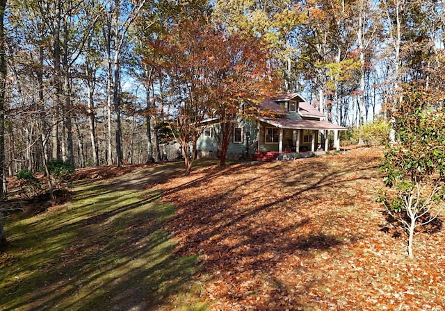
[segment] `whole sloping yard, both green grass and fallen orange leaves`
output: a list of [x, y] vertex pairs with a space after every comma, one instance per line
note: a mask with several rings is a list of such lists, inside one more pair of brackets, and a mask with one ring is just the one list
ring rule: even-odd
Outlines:
[[445, 310], [442, 222], [407, 258], [380, 155], [89, 171], [8, 215], [0, 310]]

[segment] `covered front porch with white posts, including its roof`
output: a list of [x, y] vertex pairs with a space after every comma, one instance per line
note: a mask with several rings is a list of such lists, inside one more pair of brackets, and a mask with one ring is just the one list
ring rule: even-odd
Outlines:
[[316, 153], [318, 151], [329, 151], [330, 133], [334, 137], [332, 148], [339, 151], [339, 132], [348, 129], [318, 120], [264, 118], [260, 121], [258, 131], [261, 139], [258, 140], [259, 146], [257, 149], [260, 152]]

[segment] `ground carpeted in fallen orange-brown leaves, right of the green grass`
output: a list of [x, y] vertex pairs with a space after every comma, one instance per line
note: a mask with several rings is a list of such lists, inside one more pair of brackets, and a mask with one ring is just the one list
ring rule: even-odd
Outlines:
[[159, 185], [213, 310], [444, 310], [442, 222], [416, 233], [409, 260], [375, 202], [380, 155], [214, 166]]

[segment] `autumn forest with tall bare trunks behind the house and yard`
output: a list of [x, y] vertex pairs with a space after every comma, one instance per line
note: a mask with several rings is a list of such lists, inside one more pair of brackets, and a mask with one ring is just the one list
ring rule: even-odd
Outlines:
[[300, 92], [357, 127], [380, 108], [390, 119], [404, 83], [444, 89], [442, 1], [3, 0], [0, 10], [3, 190], [18, 169], [54, 159], [159, 161], [190, 103], [203, 104], [188, 114], [199, 122], [219, 103], [221, 114], [237, 99]]

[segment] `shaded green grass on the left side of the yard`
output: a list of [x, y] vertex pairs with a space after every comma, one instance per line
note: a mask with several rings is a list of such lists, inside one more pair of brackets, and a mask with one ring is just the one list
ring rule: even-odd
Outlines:
[[129, 176], [76, 182], [70, 203], [38, 215], [9, 215], [10, 246], [0, 253], [0, 310], [207, 305], [195, 299], [201, 289], [191, 278], [199, 269], [197, 255], [173, 256], [175, 241], [165, 224], [175, 207], [159, 202], [160, 191], [129, 183], [138, 178]]

